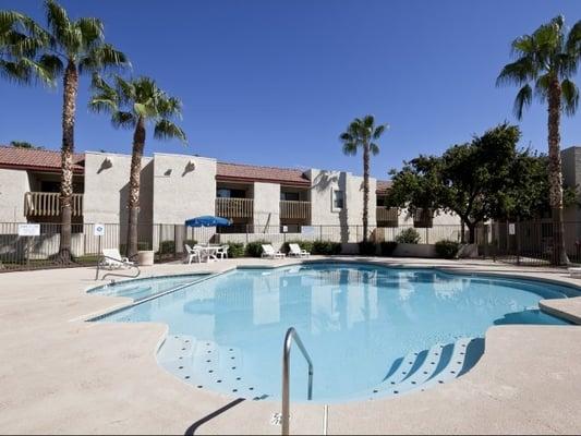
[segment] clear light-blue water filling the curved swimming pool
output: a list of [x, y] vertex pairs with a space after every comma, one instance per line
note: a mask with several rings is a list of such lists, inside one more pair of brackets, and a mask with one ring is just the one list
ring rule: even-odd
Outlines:
[[[361, 264], [239, 269], [113, 313], [162, 322], [158, 362], [198, 389], [280, 398], [282, 340], [301, 336], [315, 401], [398, 396], [444, 384], [480, 359], [492, 325], [567, 324], [541, 299], [576, 294], [545, 282]], [[306, 400], [306, 364], [291, 359], [291, 397]]]

